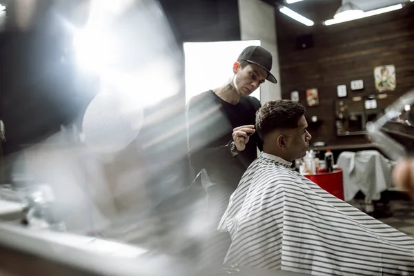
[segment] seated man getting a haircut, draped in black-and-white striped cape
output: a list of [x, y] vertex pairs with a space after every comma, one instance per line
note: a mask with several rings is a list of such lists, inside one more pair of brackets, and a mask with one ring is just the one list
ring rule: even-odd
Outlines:
[[225, 263], [311, 275], [413, 275], [413, 238], [290, 169], [311, 139], [304, 112], [288, 100], [257, 111], [264, 152], [221, 218], [219, 230], [232, 239]]

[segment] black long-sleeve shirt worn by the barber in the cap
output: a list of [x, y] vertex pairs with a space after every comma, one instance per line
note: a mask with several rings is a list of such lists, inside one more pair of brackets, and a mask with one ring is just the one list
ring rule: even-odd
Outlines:
[[246, 168], [257, 157], [262, 142], [255, 132], [245, 150], [233, 157], [226, 146], [233, 139], [233, 128], [254, 125], [260, 102], [254, 97], [241, 97], [231, 104], [220, 99], [213, 90], [190, 99], [186, 108], [188, 155], [196, 172], [206, 169], [210, 180], [237, 187]]

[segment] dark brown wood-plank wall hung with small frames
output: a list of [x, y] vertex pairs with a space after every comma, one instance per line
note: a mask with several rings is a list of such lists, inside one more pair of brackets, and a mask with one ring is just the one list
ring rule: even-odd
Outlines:
[[[306, 3], [309, 2], [309, 3]], [[311, 3], [312, 2], [312, 3]], [[389, 93], [404, 93], [414, 88], [414, 5], [406, 3], [402, 10], [380, 14], [333, 26], [322, 21], [333, 18], [341, 1], [303, 1], [292, 9], [315, 21], [307, 27], [276, 11], [277, 46], [283, 99], [291, 91], [299, 91], [306, 106], [305, 90], [318, 88], [319, 106], [307, 107], [307, 117], [316, 115], [321, 126], [311, 127], [313, 141], [328, 144], [365, 143], [364, 136], [337, 137], [335, 107], [337, 86], [346, 84], [348, 96], [372, 95], [375, 91], [373, 70], [376, 66], [394, 64], [397, 88]], [[296, 39], [312, 34], [314, 46], [300, 50]], [[362, 79], [364, 90], [353, 92], [351, 81]]]

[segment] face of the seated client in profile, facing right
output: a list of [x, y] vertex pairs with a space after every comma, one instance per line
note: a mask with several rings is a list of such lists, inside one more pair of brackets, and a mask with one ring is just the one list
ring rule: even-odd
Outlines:
[[300, 159], [306, 155], [309, 147], [309, 140], [312, 136], [309, 134], [308, 123], [304, 116], [299, 119], [297, 128], [286, 130], [286, 154], [290, 160]]

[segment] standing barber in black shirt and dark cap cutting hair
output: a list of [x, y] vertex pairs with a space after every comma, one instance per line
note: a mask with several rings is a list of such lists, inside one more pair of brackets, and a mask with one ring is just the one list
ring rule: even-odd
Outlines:
[[260, 46], [247, 47], [234, 63], [234, 76], [226, 86], [188, 102], [190, 164], [196, 173], [206, 169], [210, 181], [225, 187], [229, 194], [257, 157], [257, 147], [262, 150], [255, 132], [255, 114], [261, 105], [249, 95], [265, 80], [277, 82], [271, 68], [270, 52]]

